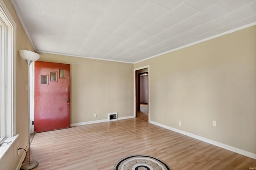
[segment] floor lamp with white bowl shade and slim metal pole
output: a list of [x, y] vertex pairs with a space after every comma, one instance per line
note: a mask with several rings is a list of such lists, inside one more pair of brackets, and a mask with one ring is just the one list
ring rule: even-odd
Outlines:
[[30, 74], [29, 74], [29, 65], [30, 63], [32, 63], [33, 61], [37, 61], [41, 56], [37, 53], [34, 53], [32, 51], [27, 51], [27, 50], [20, 50], [19, 51], [20, 56], [22, 57], [22, 59], [26, 60], [26, 62], [28, 63], [28, 153], [29, 153], [29, 161], [26, 162], [25, 164], [23, 164], [21, 166], [21, 169], [23, 170], [31, 170], [33, 168], [35, 168], [36, 166], [38, 166], [38, 162], [36, 160], [31, 160], [30, 161], [30, 88], [29, 88], [29, 79], [30, 79]]

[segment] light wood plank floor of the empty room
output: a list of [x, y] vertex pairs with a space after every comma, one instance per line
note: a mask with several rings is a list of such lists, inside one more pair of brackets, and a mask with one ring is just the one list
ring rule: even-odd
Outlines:
[[138, 118], [36, 133], [33, 170], [112, 170], [133, 154], [155, 156], [173, 170], [249, 170], [256, 160]]

